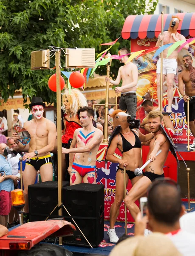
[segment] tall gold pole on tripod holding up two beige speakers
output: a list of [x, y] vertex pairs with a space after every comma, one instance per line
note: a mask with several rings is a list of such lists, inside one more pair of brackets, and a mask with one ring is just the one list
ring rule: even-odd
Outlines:
[[[61, 88], [60, 88], [60, 54], [56, 52], [56, 83], [57, 83], [57, 171], [58, 171], [58, 206], [62, 205], [62, 122], [61, 122]], [[62, 208], [59, 208], [58, 215], [62, 216]], [[62, 237], [59, 237], [59, 244], [62, 245]]]

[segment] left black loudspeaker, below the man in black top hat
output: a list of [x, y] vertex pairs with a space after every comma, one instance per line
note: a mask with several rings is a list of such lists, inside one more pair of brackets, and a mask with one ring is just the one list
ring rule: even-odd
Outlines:
[[[64, 181], [62, 187], [69, 186]], [[58, 204], [57, 181], [45, 181], [28, 186], [29, 221], [45, 221]], [[58, 218], [58, 207], [49, 218]]]

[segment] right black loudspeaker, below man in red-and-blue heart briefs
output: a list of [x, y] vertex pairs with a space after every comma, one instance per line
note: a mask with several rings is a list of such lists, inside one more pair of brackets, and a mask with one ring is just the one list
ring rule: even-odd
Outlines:
[[[104, 238], [104, 186], [81, 183], [64, 187], [63, 204], [92, 247], [97, 247]], [[64, 207], [62, 209], [65, 220], [74, 224]], [[64, 237], [63, 241], [90, 247], [82, 233], [76, 227], [74, 236]]]

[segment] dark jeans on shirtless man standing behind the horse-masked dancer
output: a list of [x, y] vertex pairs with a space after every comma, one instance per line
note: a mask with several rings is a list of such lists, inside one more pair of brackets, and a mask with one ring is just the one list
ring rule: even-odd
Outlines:
[[127, 111], [130, 116], [136, 118], [137, 96], [133, 93], [128, 96], [121, 95], [119, 108], [123, 111]]

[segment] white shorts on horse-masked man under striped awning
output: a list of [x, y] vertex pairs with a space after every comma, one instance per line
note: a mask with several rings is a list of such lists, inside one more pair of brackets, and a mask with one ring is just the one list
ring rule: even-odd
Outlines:
[[[163, 74], [175, 74], [177, 72], [178, 63], [176, 59], [163, 59]], [[161, 58], [158, 59], [156, 64], [156, 73], [161, 73]]]

